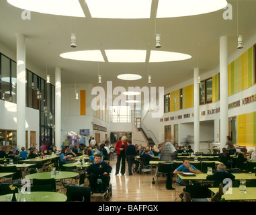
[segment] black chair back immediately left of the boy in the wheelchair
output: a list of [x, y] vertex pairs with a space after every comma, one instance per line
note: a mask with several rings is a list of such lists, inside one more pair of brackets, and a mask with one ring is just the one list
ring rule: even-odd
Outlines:
[[67, 187], [67, 201], [91, 202], [91, 188], [79, 185], [69, 185]]

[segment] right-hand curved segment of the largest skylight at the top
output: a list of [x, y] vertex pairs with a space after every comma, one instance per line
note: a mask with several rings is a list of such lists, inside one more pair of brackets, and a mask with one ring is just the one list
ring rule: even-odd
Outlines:
[[157, 18], [211, 13], [226, 5], [226, 0], [159, 0]]

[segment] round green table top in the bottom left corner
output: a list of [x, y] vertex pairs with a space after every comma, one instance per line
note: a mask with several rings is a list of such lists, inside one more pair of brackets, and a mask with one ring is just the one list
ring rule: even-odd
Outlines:
[[[13, 194], [7, 194], [0, 196], [0, 202], [5, 202], [5, 196]], [[17, 198], [17, 193], [15, 194]], [[26, 194], [26, 202], [65, 202], [67, 196], [62, 193], [56, 192], [30, 192]]]

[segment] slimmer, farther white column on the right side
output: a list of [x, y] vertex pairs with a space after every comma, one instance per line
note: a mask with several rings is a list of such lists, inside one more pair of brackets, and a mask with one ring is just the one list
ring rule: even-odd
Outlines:
[[199, 109], [199, 69], [194, 69], [194, 151], [199, 152], [200, 143], [200, 109]]

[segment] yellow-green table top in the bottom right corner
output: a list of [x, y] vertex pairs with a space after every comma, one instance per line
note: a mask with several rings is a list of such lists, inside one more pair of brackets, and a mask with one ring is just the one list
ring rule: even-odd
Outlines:
[[[218, 191], [218, 187], [209, 188], [213, 193]], [[247, 187], [245, 193], [239, 192], [239, 187], [229, 187], [228, 191], [222, 195], [222, 198], [228, 201], [234, 200], [256, 200], [256, 187]]]

